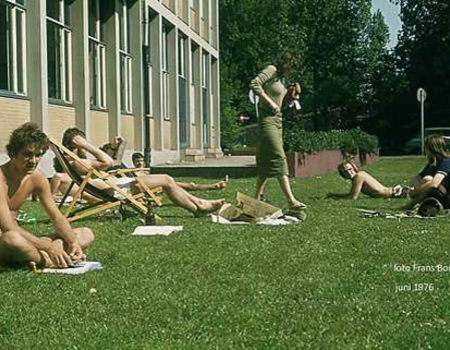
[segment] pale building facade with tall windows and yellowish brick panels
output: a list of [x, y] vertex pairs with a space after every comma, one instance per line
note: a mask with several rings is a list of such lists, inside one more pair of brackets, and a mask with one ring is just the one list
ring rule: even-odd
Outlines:
[[125, 161], [220, 157], [218, 0], [0, 0], [0, 150], [34, 121]]

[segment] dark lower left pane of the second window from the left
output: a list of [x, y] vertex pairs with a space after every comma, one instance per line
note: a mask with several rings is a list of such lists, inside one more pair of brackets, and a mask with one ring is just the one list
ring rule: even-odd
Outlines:
[[61, 36], [59, 28], [47, 25], [48, 96], [61, 99]]

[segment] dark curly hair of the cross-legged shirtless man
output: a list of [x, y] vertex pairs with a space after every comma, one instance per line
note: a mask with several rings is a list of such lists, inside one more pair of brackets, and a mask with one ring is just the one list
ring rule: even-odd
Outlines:
[[47, 135], [39, 129], [39, 126], [33, 122], [27, 122], [11, 133], [6, 151], [10, 158], [14, 158], [27, 146], [38, 147], [45, 153], [49, 145]]

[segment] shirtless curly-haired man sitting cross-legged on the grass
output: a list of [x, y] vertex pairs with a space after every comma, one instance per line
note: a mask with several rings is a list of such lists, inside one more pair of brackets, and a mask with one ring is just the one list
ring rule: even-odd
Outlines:
[[[84, 261], [93, 242], [89, 228], [72, 228], [53, 201], [46, 177], [36, 170], [49, 146], [47, 136], [34, 123], [13, 131], [6, 146], [10, 160], [0, 167], [0, 266], [16, 264], [64, 268]], [[31, 194], [39, 197], [55, 227], [52, 237], [36, 237], [15, 218]]]

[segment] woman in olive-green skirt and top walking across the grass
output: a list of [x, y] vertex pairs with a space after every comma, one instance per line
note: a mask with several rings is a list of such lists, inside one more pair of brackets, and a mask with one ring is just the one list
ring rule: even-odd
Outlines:
[[[283, 149], [282, 105], [288, 90], [284, 86], [284, 77], [294, 66], [294, 57], [284, 53], [276, 65], [265, 67], [250, 83], [255, 95], [260, 97], [259, 105], [259, 142], [256, 152], [258, 177], [256, 180], [256, 198], [264, 196], [264, 188], [269, 177], [277, 177], [280, 187], [291, 210], [305, 209], [306, 205], [298, 201], [291, 190], [286, 154]], [[291, 99], [299, 98], [299, 85], [294, 85]]]

